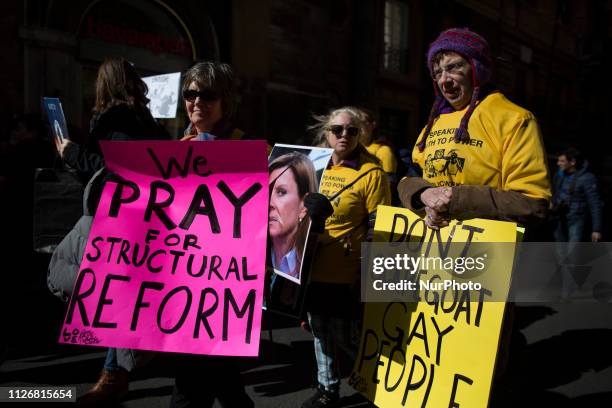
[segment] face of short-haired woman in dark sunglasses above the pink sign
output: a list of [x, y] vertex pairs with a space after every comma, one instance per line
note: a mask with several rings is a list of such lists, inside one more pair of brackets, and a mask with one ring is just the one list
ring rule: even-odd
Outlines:
[[221, 99], [211, 89], [200, 89], [196, 82], [183, 93], [189, 121], [198, 133], [210, 132], [223, 118]]

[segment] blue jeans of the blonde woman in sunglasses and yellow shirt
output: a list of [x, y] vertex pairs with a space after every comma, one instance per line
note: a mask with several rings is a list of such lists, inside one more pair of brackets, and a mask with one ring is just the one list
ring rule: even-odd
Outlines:
[[327, 391], [338, 391], [338, 349], [342, 348], [351, 359], [357, 358], [355, 339], [358, 330], [356, 320], [308, 313], [308, 321], [314, 335], [317, 358], [317, 379]]

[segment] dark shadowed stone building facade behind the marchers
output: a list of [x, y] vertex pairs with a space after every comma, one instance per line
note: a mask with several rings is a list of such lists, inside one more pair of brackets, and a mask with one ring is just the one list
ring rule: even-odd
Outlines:
[[[536, 113], [554, 148], [578, 138], [605, 106], [596, 76], [608, 66], [610, 3], [5, 1], [2, 112], [39, 112], [41, 96], [59, 96], [74, 131], [86, 135], [95, 72], [105, 57], [124, 56], [143, 76], [213, 59], [233, 65], [237, 122], [250, 133], [309, 143], [312, 113], [350, 104], [378, 112], [380, 132], [406, 147], [433, 98], [428, 43], [444, 28], [468, 26], [490, 41], [500, 89]], [[182, 110], [165, 121], [175, 136], [185, 123]]]

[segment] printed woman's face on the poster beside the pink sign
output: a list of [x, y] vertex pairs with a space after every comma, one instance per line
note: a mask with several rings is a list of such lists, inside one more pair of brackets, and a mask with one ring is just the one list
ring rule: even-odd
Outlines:
[[[286, 170], [286, 171], [285, 171]], [[279, 177], [280, 176], [280, 177]], [[293, 170], [287, 167], [270, 173], [271, 185], [268, 231], [270, 237], [291, 237], [297, 232], [300, 220], [306, 216], [304, 201], [300, 198]]]

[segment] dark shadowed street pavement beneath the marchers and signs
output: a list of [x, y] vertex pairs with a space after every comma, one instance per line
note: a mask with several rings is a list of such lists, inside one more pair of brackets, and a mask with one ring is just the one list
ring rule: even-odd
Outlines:
[[[104, 350], [57, 344], [61, 302], [44, 290], [31, 290], [12, 299], [12, 309], [6, 309], [6, 302], [3, 307], [7, 330], [2, 339], [8, 348], [0, 366], [0, 386], [72, 385], [78, 395], [91, 387]], [[521, 305], [515, 327], [508, 371], [496, 383], [491, 407], [612, 407], [611, 305]], [[241, 366], [256, 407], [299, 407], [312, 394], [312, 347], [311, 334], [295, 321], [265, 317], [260, 356], [243, 359]], [[346, 383], [350, 362], [341, 361], [341, 367], [345, 378], [338, 406], [371, 406]], [[135, 374], [130, 392], [117, 406], [167, 407], [172, 385], [172, 359], [162, 356]]]

